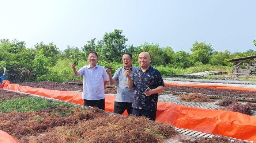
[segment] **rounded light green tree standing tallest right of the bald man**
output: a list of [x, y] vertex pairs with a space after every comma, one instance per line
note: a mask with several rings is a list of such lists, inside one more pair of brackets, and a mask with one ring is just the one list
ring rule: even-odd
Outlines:
[[193, 60], [200, 61], [203, 64], [207, 64], [210, 60], [210, 57], [213, 53], [213, 48], [210, 43], [206, 44], [205, 42], [195, 42], [192, 44], [192, 48], [190, 48], [190, 51], [192, 51], [192, 58]]

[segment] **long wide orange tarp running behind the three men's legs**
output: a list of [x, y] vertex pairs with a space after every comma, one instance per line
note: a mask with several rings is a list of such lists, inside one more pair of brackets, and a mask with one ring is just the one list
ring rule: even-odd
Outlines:
[[[47, 90], [11, 84], [5, 80], [0, 88], [83, 104], [82, 93]], [[105, 95], [105, 110], [113, 112], [114, 96]], [[256, 117], [238, 112], [186, 107], [158, 102], [157, 121], [176, 127], [256, 141]]]

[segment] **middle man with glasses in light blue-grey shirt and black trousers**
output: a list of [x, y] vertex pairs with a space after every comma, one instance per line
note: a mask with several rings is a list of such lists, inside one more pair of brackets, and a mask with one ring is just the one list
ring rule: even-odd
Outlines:
[[132, 55], [124, 53], [122, 61], [124, 67], [120, 67], [114, 73], [112, 78], [110, 69], [106, 69], [109, 75], [109, 82], [113, 85], [117, 82], [117, 96], [114, 102], [114, 113], [123, 114], [127, 110], [128, 114], [132, 114], [132, 103], [134, 100], [133, 88], [129, 89], [126, 85], [127, 77], [124, 75], [125, 70], [134, 71], [137, 67], [132, 66]]

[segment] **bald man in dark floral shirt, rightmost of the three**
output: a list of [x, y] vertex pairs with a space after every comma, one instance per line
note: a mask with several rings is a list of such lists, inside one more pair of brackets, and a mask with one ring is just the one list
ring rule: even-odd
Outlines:
[[127, 86], [134, 90], [132, 114], [155, 120], [158, 93], [165, 90], [165, 84], [160, 72], [151, 67], [151, 58], [148, 52], [141, 52], [138, 59], [140, 68], [135, 69], [133, 74], [131, 71], [125, 71]]

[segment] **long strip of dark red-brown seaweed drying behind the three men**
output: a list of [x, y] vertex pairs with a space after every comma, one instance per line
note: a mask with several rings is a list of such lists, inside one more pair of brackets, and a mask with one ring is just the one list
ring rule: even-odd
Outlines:
[[[76, 81], [73, 81], [76, 82]], [[82, 82], [82, 81], [79, 81]], [[18, 83], [21, 86], [30, 86], [34, 88], [46, 88], [49, 90], [61, 90], [61, 91], [77, 91], [83, 90], [82, 86], [63, 84], [56, 82], [27, 82]], [[166, 91], [172, 92], [187, 92], [187, 93], [200, 93], [200, 94], [212, 94], [212, 95], [224, 95], [224, 96], [238, 96], [238, 97], [251, 97], [256, 98], [256, 92], [252, 91], [237, 91], [237, 90], [220, 90], [213, 88], [197, 88], [197, 87], [187, 87], [187, 86], [166, 86]], [[105, 94], [116, 94], [117, 90], [115, 88], [105, 88]]]

